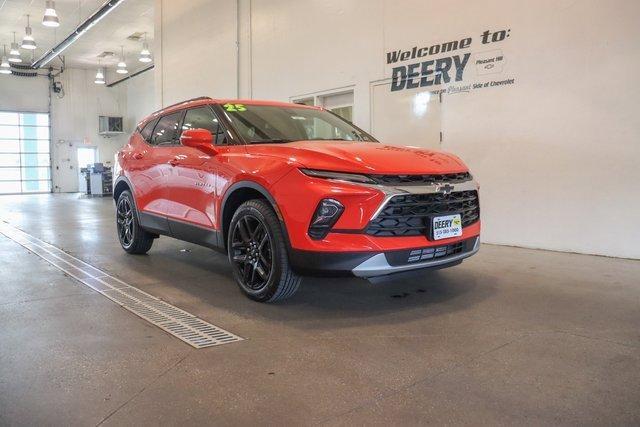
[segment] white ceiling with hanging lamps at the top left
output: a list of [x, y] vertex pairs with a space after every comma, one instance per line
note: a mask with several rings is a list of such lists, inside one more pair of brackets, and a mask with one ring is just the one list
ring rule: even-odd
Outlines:
[[[38, 45], [35, 58], [66, 38], [78, 24], [96, 11], [106, 0], [56, 0], [56, 12], [60, 19], [58, 28], [42, 25], [45, 0], [0, 0], [0, 48], [6, 44], [7, 50], [13, 41], [20, 44], [27, 25], [27, 14], [31, 15], [33, 37]], [[120, 56], [120, 46], [124, 46], [125, 60], [130, 71], [144, 68], [149, 64], [138, 61], [142, 42], [127, 40], [135, 32], [147, 33], [149, 47], [153, 49], [153, 9], [154, 0], [124, 0], [115, 10], [68, 47], [62, 55], [66, 66], [91, 69], [98, 66], [98, 55], [109, 51], [116, 56], [101, 60], [105, 67], [115, 67]], [[30, 60], [31, 51], [20, 49], [22, 59]], [[153, 53], [153, 52], [152, 52]], [[60, 66], [54, 59], [50, 64]]]

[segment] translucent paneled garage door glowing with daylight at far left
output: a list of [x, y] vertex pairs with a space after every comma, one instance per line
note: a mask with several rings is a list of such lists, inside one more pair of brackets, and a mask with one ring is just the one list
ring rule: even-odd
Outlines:
[[0, 194], [50, 191], [49, 114], [0, 111]]

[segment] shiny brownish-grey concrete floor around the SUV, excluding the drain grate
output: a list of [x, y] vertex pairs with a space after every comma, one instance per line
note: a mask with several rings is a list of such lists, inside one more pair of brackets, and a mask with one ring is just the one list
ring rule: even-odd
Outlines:
[[125, 254], [113, 212], [0, 197], [0, 219], [246, 340], [193, 349], [0, 235], [0, 425], [640, 423], [638, 261], [484, 245], [263, 305], [210, 250]]

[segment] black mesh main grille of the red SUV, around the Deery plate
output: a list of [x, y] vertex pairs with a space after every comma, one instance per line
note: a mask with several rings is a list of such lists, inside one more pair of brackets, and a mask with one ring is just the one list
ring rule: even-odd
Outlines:
[[371, 220], [366, 233], [373, 236], [427, 236], [431, 217], [457, 213], [462, 217], [462, 227], [480, 218], [477, 191], [395, 196]]

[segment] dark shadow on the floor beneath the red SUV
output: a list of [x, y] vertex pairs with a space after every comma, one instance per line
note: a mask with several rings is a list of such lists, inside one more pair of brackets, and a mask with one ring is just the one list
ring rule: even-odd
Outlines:
[[[198, 312], [194, 313], [196, 315], [213, 316], [213, 312], [222, 309], [244, 318], [287, 322], [304, 329], [423, 319], [465, 310], [495, 291], [494, 278], [484, 277], [463, 263], [450, 269], [424, 271], [378, 284], [357, 278], [304, 277], [292, 298], [275, 304], [261, 304], [249, 300], [239, 291], [226, 256], [206, 248], [172, 242], [152, 249], [145, 257], [129, 261], [133, 264], [153, 261], [155, 265], [162, 265], [162, 270], [148, 274], [155, 276], [165, 289], [171, 287], [201, 301], [203, 306], [197, 304], [190, 308]], [[134, 267], [131, 262], [127, 264]], [[180, 273], [167, 281], [166, 270], [179, 270]], [[162, 289], [158, 291], [162, 292]], [[149, 289], [148, 292], [154, 294], [155, 291]], [[172, 302], [170, 298], [168, 302]]]

